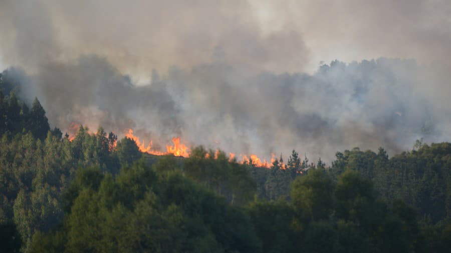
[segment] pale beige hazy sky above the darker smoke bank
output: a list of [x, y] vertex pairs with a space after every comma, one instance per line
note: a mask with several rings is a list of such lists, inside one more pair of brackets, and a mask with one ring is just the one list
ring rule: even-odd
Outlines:
[[7, 64], [106, 56], [149, 75], [215, 51], [257, 70], [309, 71], [377, 57], [449, 60], [448, 0], [2, 0]]

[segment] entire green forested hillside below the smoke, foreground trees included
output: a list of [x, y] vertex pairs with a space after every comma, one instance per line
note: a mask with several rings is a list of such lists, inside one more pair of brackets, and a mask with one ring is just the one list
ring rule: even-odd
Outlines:
[[[196, 147], [143, 155], [99, 127], [51, 129], [0, 78], [2, 252], [447, 252], [451, 144], [271, 168]], [[30, 109], [30, 107], [31, 109]]]

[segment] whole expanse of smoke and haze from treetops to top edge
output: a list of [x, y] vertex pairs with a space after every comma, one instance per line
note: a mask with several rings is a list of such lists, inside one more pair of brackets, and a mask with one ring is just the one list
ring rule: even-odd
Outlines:
[[[354, 146], [395, 152], [421, 137], [451, 140], [451, 26], [435, 27], [449, 24], [449, 3], [396, 15], [393, 8], [410, 5], [380, 1], [371, 12], [365, 1], [347, 0], [336, 16], [314, 22], [306, 16], [331, 9], [278, 2], [4, 0], [0, 53], [28, 73], [18, 72], [20, 95], [38, 96], [53, 125], [102, 125], [119, 135], [132, 128], [155, 147], [181, 136], [238, 154], [268, 158], [295, 148], [331, 160]], [[352, 25], [346, 6], [360, 10]], [[372, 50], [353, 48], [345, 60], [390, 58], [304, 71], [322, 56], [318, 48], [332, 53], [352, 40]]]

